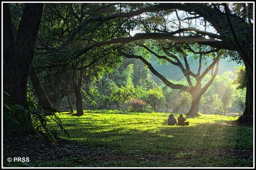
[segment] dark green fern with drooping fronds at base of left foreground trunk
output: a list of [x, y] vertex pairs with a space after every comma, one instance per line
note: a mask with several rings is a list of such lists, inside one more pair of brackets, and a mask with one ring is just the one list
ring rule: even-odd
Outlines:
[[60, 130], [69, 137], [68, 131], [63, 127], [62, 121], [57, 116], [59, 111], [51, 108], [42, 108], [38, 105], [31, 88], [27, 91], [28, 108], [14, 104], [11, 96], [3, 92], [3, 123], [5, 132], [13, 133], [36, 133], [40, 138], [46, 138], [53, 143], [56, 135], [48, 127], [47, 122], [55, 121]]

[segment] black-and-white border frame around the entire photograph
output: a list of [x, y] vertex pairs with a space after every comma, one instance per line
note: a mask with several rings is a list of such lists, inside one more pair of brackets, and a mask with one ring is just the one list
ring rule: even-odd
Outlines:
[[[2, 24], [2, 28], [1, 28], [1, 35], [2, 35], [2, 39], [1, 39], [1, 48], [2, 48], [2, 52], [1, 52], [1, 92], [3, 92], [3, 3], [102, 3], [102, 2], [107, 2], [107, 3], [154, 3], [156, 1], [2, 1], [1, 2], [1, 24]], [[225, 2], [234, 2], [234, 3], [253, 3], [254, 9], [253, 9], [253, 15], [254, 15], [254, 19], [255, 19], [255, 2], [254, 1], [216, 1], [214, 3], [225, 3]], [[181, 3], [178, 1], [174, 1], [174, 2], [168, 2], [168, 1], [159, 1], [157, 3]], [[201, 1], [185, 1], [182, 3], [212, 3], [210, 1], [205, 1], [205, 2], [201, 2]], [[255, 32], [255, 24], [253, 24], [253, 33]], [[255, 34], [253, 34], [253, 44], [255, 45]], [[255, 48], [253, 48], [253, 72], [255, 73]], [[253, 100], [254, 100], [254, 105], [253, 105], [253, 112], [254, 112], [254, 120], [253, 120], [253, 167], [209, 167], [210, 169], [254, 169], [255, 168], [255, 74], [253, 75]], [[2, 99], [2, 103], [1, 103], [1, 113], [3, 113], [3, 93], [1, 93], [1, 99]], [[49, 167], [3, 167], [3, 114], [1, 114], [1, 122], [2, 122], [2, 126], [1, 126], [1, 156], [2, 156], [2, 163], [1, 163], [1, 168], [2, 169], [31, 169], [31, 168], [35, 168], [35, 169], [46, 169]], [[53, 168], [53, 167], [51, 167]], [[108, 169], [106, 167], [56, 167], [56, 169]], [[140, 169], [155, 169], [154, 167], [109, 167], [109, 168], [113, 168], [113, 169], [134, 169], [134, 168], [140, 168]], [[170, 169], [171, 167], [156, 167], [158, 169]], [[205, 167], [175, 167], [174, 169], [205, 169]]]

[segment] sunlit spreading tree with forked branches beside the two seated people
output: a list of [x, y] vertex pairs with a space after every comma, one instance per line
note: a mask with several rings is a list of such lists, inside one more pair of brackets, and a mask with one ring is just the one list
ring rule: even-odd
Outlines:
[[[182, 71], [183, 75], [187, 79], [188, 86], [184, 86], [183, 84], [175, 84], [175, 83], [172, 83], [170, 80], [167, 80], [162, 74], [156, 71], [154, 67], [150, 64], [150, 62], [148, 62], [143, 56], [138, 56], [134, 54], [125, 54], [125, 56], [128, 58], [140, 59], [148, 67], [148, 69], [151, 70], [151, 72], [154, 75], [158, 76], [158, 78], [160, 78], [162, 82], [166, 84], [166, 86], [174, 89], [179, 89], [185, 92], [189, 92], [189, 94], [191, 94], [192, 96], [192, 101], [191, 101], [191, 109], [187, 113], [187, 116], [191, 116], [191, 117], [199, 116], [198, 111], [199, 111], [201, 96], [203, 96], [204, 93], [207, 91], [208, 87], [210, 86], [210, 84], [212, 84], [214, 78], [218, 73], [218, 63], [219, 63], [220, 57], [222, 56], [221, 52], [219, 52], [217, 49], [205, 50], [207, 48], [203, 49], [201, 46], [196, 46], [196, 49], [200, 49], [199, 51], [196, 51], [192, 49], [191, 46], [189, 46], [188, 44], [183, 46], [183, 45], [172, 45], [172, 44], [170, 45], [168, 43], [161, 42], [160, 44], [156, 43], [158, 44], [156, 45], [152, 41], [150, 41], [148, 44], [151, 44], [151, 46], [154, 46], [154, 48], [159, 53], [162, 53], [162, 55], [157, 54], [157, 52], [154, 52], [154, 50], [148, 48], [148, 46], [144, 44], [141, 44], [140, 46], [146, 49], [147, 52], [149, 52], [150, 54], [162, 60], [162, 62], [168, 62], [168, 63], [171, 63], [172, 65], [179, 67], [179, 69]], [[179, 56], [175, 55], [175, 52], [178, 52]], [[216, 53], [216, 55], [212, 53]], [[213, 62], [210, 63], [210, 65], [203, 71], [203, 73], [201, 73], [204, 60], [205, 58], [207, 58], [205, 56], [206, 55], [209, 56], [210, 54], [212, 54], [213, 56]], [[191, 71], [189, 67], [188, 56], [191, 56], [191, 55], [193, 55], [194, 58], [197, 58], [199, 62], [197, 73], [193, 73], [193, 71]], [[204, 76], [209, 73], [209, 71], [211, 71], [212, 77], [202, 87], [201, 82]], [[195, 79], [195, 82], [192, 81], [191, 77]]]

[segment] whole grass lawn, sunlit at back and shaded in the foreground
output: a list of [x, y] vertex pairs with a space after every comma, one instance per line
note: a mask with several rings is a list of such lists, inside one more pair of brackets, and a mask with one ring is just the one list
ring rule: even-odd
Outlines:
[[71, 137], [50, 126], [69, 143], [38, 142], [34, 156], [4, 145], [5, 158], [31, 156], [29, 163], [5, 159], [4, 167], [253, 167], [253, 128], [230, 124], [238, 117], [201, 114], [187, 118], [189, 126], [168, 126], [169, 114], [85, 111], [75, 117], [63, 112]]

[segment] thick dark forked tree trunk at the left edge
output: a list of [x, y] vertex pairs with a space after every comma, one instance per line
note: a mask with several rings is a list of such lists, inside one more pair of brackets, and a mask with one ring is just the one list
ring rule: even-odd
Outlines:
[[27, 3], [15, 33], [9, 4], [3, 3], [3, 90], [13, 97], [14, 103], [24, 107], [27, 107], [27, 78], [43, 8], [42, 3]]

